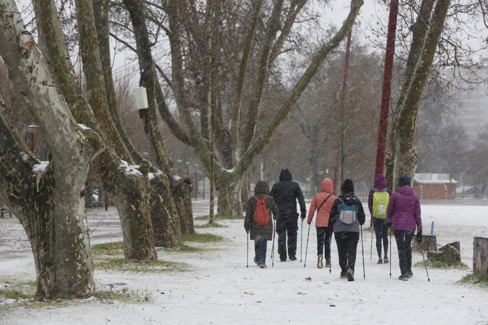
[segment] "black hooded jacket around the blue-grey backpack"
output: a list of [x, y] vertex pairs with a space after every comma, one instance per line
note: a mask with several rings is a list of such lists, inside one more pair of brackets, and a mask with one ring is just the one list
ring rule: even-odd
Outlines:
[[[359, 222], [359, 225], [364, 225], [366, 221], [366, 214], [365, 210], [363, 209], [363, 204], [361, 201], [357, 198], [357, 196], [354, 196], [354, 183], [352, 180], [347, 178], [344, 183], [341, 185], [341, 192], [342, 194], [339, 196], [334, 201], [334, 204], [332, 205], [332, 209], [330, 210], [329, 214], [329, 227], [333, 227], [336, 221], [339, 219], [339, 214], [341, 212], [342, 208], [342, 202], [340, 199], [344, 201], [345, 204], [347, 205], [355, 205], [356, 206], [356, 212], [357, 212], [357, 221]], [[340, 220], [338, 221], [340, 224], [340, 229], [339, 231], [355, 231], [359, 232], [359, 225], [355, 225], [354, 223], [351, 225], [346, 225], [342, 223]], [[338, 229], [334, 229], [334, 232], [336, 232]]]

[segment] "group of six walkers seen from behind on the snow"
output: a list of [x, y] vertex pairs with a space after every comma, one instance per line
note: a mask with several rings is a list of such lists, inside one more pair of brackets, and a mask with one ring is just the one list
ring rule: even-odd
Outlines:
[[[376, 234], [378, 264], [388, 263], [388, 230], [391, 229], [398, 248], [399, 279], [407, 281], [413, 276], [411, 242], [415, 229], [417, 240], [422, 240], [422, 219], [420, 200], [410, 186], [410, 177], [401, 176], [398, 186], [398, 191], [392, 193], [386, 189], [385, 176], [377, 175], [374, 188], [368, 195], [368, 208]], [[362, 202], [354, 195], [351, 179], [342, 183], [339, 197], [333, 194], [333, 190], [332, 180], [324, 178], [321, 192], [313, 197], [307, 216], [303, 192], [298, 183], [292, 181], [288, 169], [281, 171], [280, 181], [273, 185], [271, 191], [266, 182], [259, 181], [254, 188], [254, 196], [247, 202], [244, 219], [244, 229], [250, 234], [250, 239], [254, 240], [254, 262], [260, 268], [266, 268], [267, 241], [273, 240], [274, 235], [271, 215], [276, 220], [280, 261], [297, 259], [298, 200], [302, 225], [305, 218], [310, 225], [316, 215], [317, 267], [324, 267], [325, 257], [325, 267], [330, 268], [330, 243], [334, 234], [341, 268], [340, 278], [354, 281], [357, 246], [366, 214]]]

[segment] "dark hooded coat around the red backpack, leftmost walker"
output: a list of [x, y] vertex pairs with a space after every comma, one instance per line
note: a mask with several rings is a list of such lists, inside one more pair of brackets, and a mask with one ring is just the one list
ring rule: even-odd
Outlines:
[[[264, 204], [268, 209], [269, 216], [273, 216], [273, 219], [278, 219], [279, 212], [274, 200], [271, 196], [269, 196], [269, 187], [264, 181], [259, 181], [258, 184], [254, 187], [254, 195], [259, 199], [264, 198], [266, 195], [268, 197], [264, 200]], [[273, 222], [269, 220], [266, 226], [260, 226], [254, 221], [254, 211], [256, 210], [256, 204], [258, 201], [254, 196], [249, 198], [247, 201], [247, 208], [245, 212], [244, 218], [244, 229], [250, 230], [250, 238], [251, 240], [271, 240], [273, 236]]]

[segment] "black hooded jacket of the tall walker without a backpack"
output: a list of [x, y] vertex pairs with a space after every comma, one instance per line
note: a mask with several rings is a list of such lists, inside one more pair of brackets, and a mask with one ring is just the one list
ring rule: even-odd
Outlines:
[[291, 172], [285, 168], [281, 170], [280, 181], [273, 185], [269, 193], [280, 210], [280, 220], [298, 217], [297, 199], [300, 211], [306, 216], [305, 198], [298, 183], [292, 181]]

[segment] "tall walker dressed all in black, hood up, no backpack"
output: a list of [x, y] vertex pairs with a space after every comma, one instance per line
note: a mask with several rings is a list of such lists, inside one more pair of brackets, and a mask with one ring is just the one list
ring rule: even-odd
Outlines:
[[297, 254], [297, 232], [298, 232], [298, 212], [297, 199], [300, 204], [301, 218], [306, 217], [305, 199], [302, 189], [298, 183], [292, 182], [291, 172], [287, 168], [280, 172], [280, 181], [273, 185], [271, 195], [274, 198], [280, 218], [276, 222], [276, 232], [278, 233], [278, 254], [280, 260], [286, 261], [286, 236], [288, 236], [288, 257], [296, 260]]

